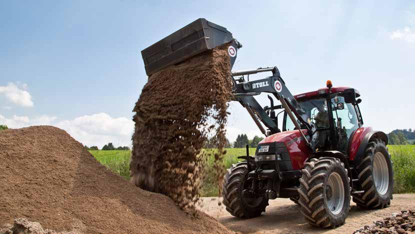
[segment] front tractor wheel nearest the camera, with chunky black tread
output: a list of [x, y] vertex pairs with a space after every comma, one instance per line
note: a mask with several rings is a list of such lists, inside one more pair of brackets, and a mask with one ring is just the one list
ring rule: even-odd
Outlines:
[[344, 223], [350, 209], [347, 169], [334, 157], [311, 158], [301, 170], [298, 188], [301, 213], [318, 227], [337, 227]]

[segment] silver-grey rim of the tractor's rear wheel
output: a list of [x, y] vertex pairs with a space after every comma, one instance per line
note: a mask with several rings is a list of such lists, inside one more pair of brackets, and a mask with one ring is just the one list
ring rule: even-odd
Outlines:
[[376, 152], [373, 156], [373, 180], [376, 190], [381, 195], [385, 194], [389, 186], [389, 171], [383, 153]]

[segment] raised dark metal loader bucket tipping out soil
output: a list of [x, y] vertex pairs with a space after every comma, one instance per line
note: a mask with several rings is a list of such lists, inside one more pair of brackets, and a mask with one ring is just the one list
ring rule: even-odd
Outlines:
[[196, 19], [141, 51], [145, 72], [150, 75], [231, 40], [232, 33], [225, 27]]

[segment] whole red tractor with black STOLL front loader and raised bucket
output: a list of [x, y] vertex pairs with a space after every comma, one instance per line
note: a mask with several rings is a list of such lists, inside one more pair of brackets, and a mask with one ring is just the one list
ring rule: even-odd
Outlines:
[[[228, 44], [232, 67], [241, 44], [226, 28], [199, 18], [141, 51], [146, 73]], [[249, 74], [271, 72], [262, 79]], [[232, 97], [265, 138], [227, 169], [222, 196], [226, 210], [241, 218], [259, 216], [269, 199], [290, 198], [315, 226], [336, 227], [348, 215], [350, 197], [360, 207], [390, 204], [393, 171], [382, 131], [363, 126], [358, 97], [349, 87], [325, 87], [292, 95], [276, 66], [231, 71]], [[245, 79], [246, 78], [246, 79]], [[268, 93], [269, 106], [256, 95]], [[274, 105], [274, 99], [280, 102]], [[277, 112], [277, 113], [276, 113]], [[278, 121], [279, 120], [279, 121]]]

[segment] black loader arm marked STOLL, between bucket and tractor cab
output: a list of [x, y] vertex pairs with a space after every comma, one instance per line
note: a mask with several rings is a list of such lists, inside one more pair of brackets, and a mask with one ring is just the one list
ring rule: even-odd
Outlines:
[[[245, 81], [243, 77], [235, 77], [265, 71], [272, 71], [272, 76], [252, 81]], [[276, 66], [258, 68], [254, 70], [232, 71], [231, 74], [235, 84], [233, 90], [233, 100], [239, 101], [239, 103], [247, 109], [262, 133], [266, 135], [265, 130], [262, 125], [260, 125], [259, 121], [261, 121], [270, 130], [271, 134], [280, 131], [274, 119], [268, 116], [263, 107], [254, 98], [254, 95], [258, 95], [261, 92], [268, 92], [272, 93], [281, 102], [284, 110], [287, 112], [295, 127], [297, 129], [305, 127], [308, 135], [311, 135], [312, 126], [308, 123], [305, 111], [301, 108], [300, 104], [295, 100], [294, 96], [285, 85], [285, 82], [281, 78]], [[299, 123], [296, 121], [294, 116], [298, 119]], [[304, 133], [302, 131], [300, 131], [300, 133], [302, 134], [305, 142], [309, 145], [309, 141], [305, 137]]]

